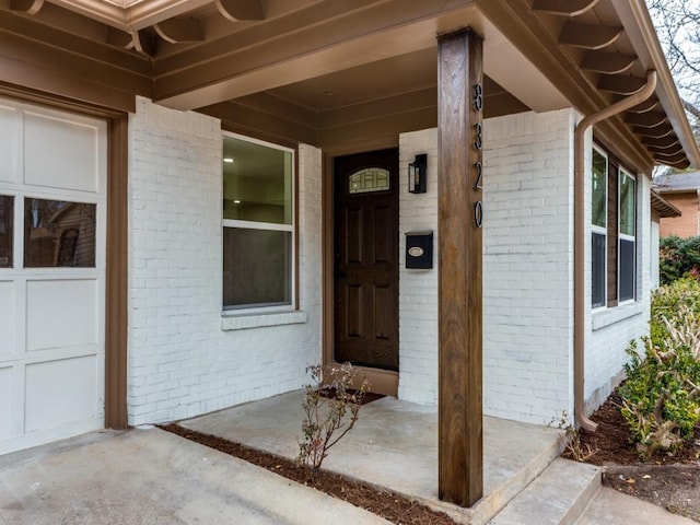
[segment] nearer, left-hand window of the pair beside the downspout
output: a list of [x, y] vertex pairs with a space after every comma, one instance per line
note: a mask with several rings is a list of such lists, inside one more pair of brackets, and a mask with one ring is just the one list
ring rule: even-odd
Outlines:
[[591, 209], [591, 292], [594, 308], [606, 304], [608, 158], [593, 149]]

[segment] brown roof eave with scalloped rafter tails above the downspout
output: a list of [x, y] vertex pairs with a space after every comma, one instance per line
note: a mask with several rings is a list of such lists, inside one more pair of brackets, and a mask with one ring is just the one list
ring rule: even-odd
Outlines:
[[641, 0], [480, 0], [501, 31], [588, 115], [641, 91], [655, 70], [655, 94], [598, 126], [638, 166], [685, 168], [700, 163], [686, 115]]

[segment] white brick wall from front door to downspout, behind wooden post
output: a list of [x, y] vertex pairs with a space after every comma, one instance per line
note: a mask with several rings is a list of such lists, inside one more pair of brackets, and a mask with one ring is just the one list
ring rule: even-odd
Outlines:
[[[570, 410], [573, 313], [573, 114], [485, 122], [483, 334], [486, 413], [541, 423]], [[400, 165], [428, 153], [428, 192], [400, 189], [400, 253], [411, 230], [434, 230], [436, 130], [404, 133]], [[399, 397], [438, 400], [438, 254], [399, 281]]]

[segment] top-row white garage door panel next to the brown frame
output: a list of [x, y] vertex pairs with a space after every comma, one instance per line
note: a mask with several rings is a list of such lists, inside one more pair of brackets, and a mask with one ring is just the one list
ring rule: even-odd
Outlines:
[[[97, 191], [100, 128], [60, 117], [25, 113], [24, 183]], [[66, 152], [70, 152], [69, 155]]]

